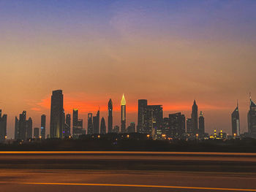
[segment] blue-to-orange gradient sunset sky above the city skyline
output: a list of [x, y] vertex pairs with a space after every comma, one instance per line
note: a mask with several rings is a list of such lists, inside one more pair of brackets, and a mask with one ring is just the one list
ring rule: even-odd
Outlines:
[[[101, 109], [113, 99], [120, 124], [137, 124], [138, 99], [191, 115], [193, 100], [206, 131], [231, 132], [239, 101], [247, 131], [249, 91], [256, 100], [256, 1], [12, 1], [0, 0], [0, 108], [13, 137], [26, 110], [39, 127], [50, 95], [64, 91], [66, 112]], [[106, 120], [106, 119], [105, 119]], [[87, 128], [87, 126], [86, 126]]]

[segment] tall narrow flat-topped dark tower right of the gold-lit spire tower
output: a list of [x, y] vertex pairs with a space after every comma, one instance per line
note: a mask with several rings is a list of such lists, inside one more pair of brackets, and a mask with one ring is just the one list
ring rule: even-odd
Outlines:
[[145, 133], [146, 132], [146, 107], [148, 106], [148, 101], [146, 99], [138, 100], [138, 125], [137, 132]]

